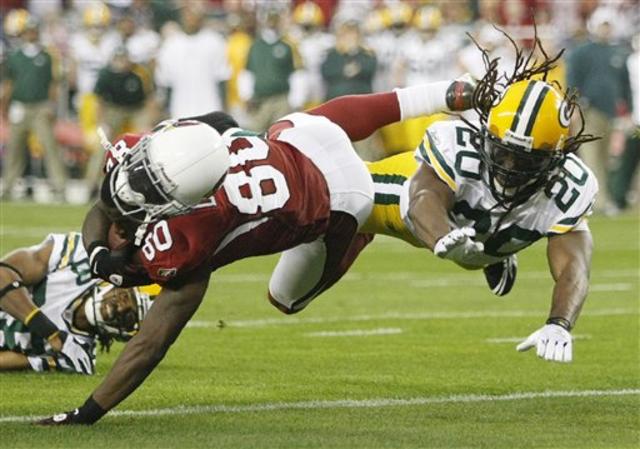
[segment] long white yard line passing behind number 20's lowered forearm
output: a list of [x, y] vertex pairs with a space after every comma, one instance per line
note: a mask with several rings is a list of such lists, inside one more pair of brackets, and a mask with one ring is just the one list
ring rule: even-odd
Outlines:
[[[631, 308], [611, 308], [585, 311], [582, 316], [619, 316], [637, 315], [638, 309]], [[380, 320], [457, 320], [463, 318], [534, 318], [540, 317], [540, 312], [535, 310], [488, 310], [482, 312], [414, 312], [398, 313], [389, 312], [379, 315], [354, 315], [354, 316], [332, 316], [332, 317], [307, 317], [296, 316], [282, 318], [259, 318], [255, 320], [223, 320], [228, 327], [267, 327], [284, 326], [297, 324], [325, 324], [343, 322], [366, 322]], [[210, 328], [220, 327], [220, 321], [192, 320], [187, 323], [190, 328]]]

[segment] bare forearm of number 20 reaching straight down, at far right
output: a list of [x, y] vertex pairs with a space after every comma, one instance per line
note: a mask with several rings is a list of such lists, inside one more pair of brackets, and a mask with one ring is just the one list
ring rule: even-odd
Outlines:
[[573, 326], [589, 291], [593, 240], [587, 231], [549, 238], [547, 258], [555, 281], [550, 318], [564, 318]]

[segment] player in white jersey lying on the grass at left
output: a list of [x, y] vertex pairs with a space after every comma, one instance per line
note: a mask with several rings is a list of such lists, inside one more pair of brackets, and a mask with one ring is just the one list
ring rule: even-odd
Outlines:
[[79, 233], [50, 234], [0, 262], [0, 370], [92, 374], [96, 338], [126, 341], [149, 295], [91, 278]]

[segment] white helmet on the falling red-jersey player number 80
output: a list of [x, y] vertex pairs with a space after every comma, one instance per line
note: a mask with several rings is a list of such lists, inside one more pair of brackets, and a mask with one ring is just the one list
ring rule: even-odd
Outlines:
[[152, 222], [189, 212], [222, 184], [228, 169], [229, 151], [215, 129], [169, 120], [114, 168], [109, 191], [124, 216]]

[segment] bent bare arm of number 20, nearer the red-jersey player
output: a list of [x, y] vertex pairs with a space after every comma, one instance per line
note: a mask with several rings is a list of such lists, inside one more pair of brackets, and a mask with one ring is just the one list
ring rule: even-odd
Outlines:
[[436, 241], [451, 230], [448, 212], [453, 192], [433, 169], [420, 164], [409, 185], [409, 218], [416, 236], [433, 251]]

